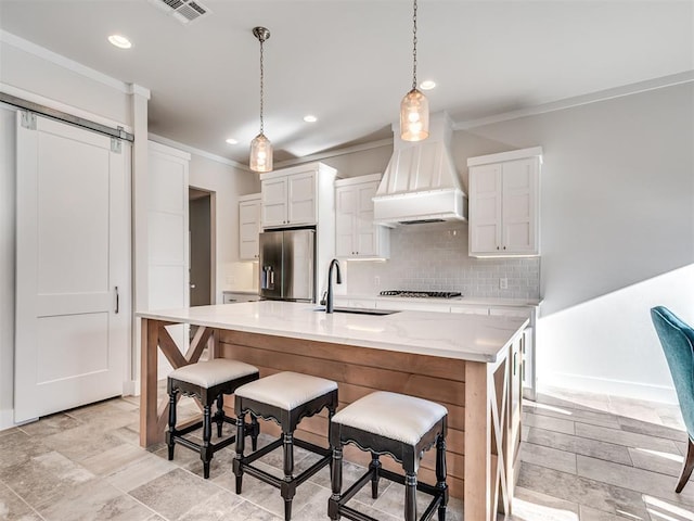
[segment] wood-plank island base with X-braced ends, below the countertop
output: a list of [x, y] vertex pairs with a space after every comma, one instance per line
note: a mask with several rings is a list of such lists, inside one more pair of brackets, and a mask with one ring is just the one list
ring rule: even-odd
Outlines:
[[[206, 346], [210, 356], [252, 364], [266, 377], [296, 371], [334, 380], [339, 406], [376, 390], [419, 396], [448, 408], [448, 486], [464, 501], [465, 517], [492, 521], [496, 512], [511, 513], [519, 465], [522, 330], [496, 363], [471, 361], [400, 353], [296, 338], [192, 326], [195, 334], [187, 350], [179, 350], [167, 331], [176, 321], [142, 318], [140, 444], [147, 447], [164, 439], [168, 415], [166, 396], [157, 396], [157, 356], [160, 351], [174, 368], [197, 361]], [[233, 398], [227, 398], [233, 415]], [[272, 422], [261, 431], [279, 434]], [[327, 446], [325, 415], [306, 418], [298, 437]], [[430, 452], [429, 452], [430, 453]], [[345, 447], [345, 458], [368, 466], [369, 456]], [[383, 465], [400, 471], [391, 458]], [[425, 454], [419, 478], [435, 483], [435, 458]]]

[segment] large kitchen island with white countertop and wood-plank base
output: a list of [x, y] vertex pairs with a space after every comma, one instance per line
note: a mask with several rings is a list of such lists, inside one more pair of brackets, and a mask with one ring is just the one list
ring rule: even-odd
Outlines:
[[[335, 380], [340, 407], [375, 390], [445, 405], [451, 495], [463, 498], [466, 519], [491, 521], [497, 510], [510, 513], [520, 442], [520, 359], [527, 320], [429, 312], [327, 315], [316, 309], [311, 304], [262, 301], [138, 314], [141, 445], [160, 442], [166, 427], [168, 402], [157, 397], [158, 352], [178, 368], [197, 361], [209, 345], [210, 356], [247, 361], [261, 376], [292, 370]], [[195, 327], [190, 346], [183, 350], [167, 330], [181, 323]], [[269, 422], [262, 428], [273, 434], [277, 430]], [[327, 444], [324, 417], [307, 418], [300, 428], [299, 436]], [[356, 449], [346, 450], [345, 457], [365, 462]], [[398, 470], [395, 462], [388, 466]], [[422, 481], [435, 481], [434, 466], [427, 453], [420, 469]]]

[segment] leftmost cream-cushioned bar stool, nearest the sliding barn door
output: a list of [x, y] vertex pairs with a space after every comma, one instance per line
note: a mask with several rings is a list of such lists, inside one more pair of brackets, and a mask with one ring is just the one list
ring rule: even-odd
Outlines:
[[[169, 447], [169, 460], [174, 459], [174, 448], [177, 443], [200, 453], [203, 460], [203, 475], [209, 478], [209, 462], [213, 455], [235, 441], [235, 436], [229, 436], [213, 444], [211, 422], [217, 423], [217, 436], [221, 437], [221, 428], [224, 422], [235, 423], [235, 420], [224, 415], [224, 394], [233, 394], [236, 387], [254, 380], [258, 380], [258, 368], [243, 361], [227, 358], [215, 358], [208, 361], [198, 361], [180, 367], [168, 376], [167, 392], [169, 394], [169, 428], [166, 432], [166, 444]], [[203, 419], [183, 429], [176, 428], [176, 405], [178, 394], [195, 396], [203, 405]], [[217, 411], [211, 417], [210, 408], [217, 402]], [[185, 434], [203, 428], [202, 445], [187, 437]], [[253, 446], [257, 445], [258, 424], [248, 425], [246, 435], [250, 435]]]

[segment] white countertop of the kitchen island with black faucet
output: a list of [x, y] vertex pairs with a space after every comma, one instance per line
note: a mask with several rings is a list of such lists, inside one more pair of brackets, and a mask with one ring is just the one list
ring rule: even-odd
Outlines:
[[515, 317], [433, 312], [329, 315], [313, 304], [260, 301], [138, 313], [138, 317], [446, 358], [493, 363], [527, 326]]

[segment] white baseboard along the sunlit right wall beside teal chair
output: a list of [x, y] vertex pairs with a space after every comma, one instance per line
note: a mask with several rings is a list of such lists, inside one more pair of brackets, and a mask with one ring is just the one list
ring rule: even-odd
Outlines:
[[584, 391], [588, 393], [622, 396], [626, 398], [644, 399], [647, 402], [678, 404], [674, 387], [668, 387], [665, 385], [627, 382], [607, 378], [587, 377], [583, 374], [570, 374], [567, 372], [555, 372], [551, 376], [542, 376], [538, 382], [540, 393], [544, 385]]

